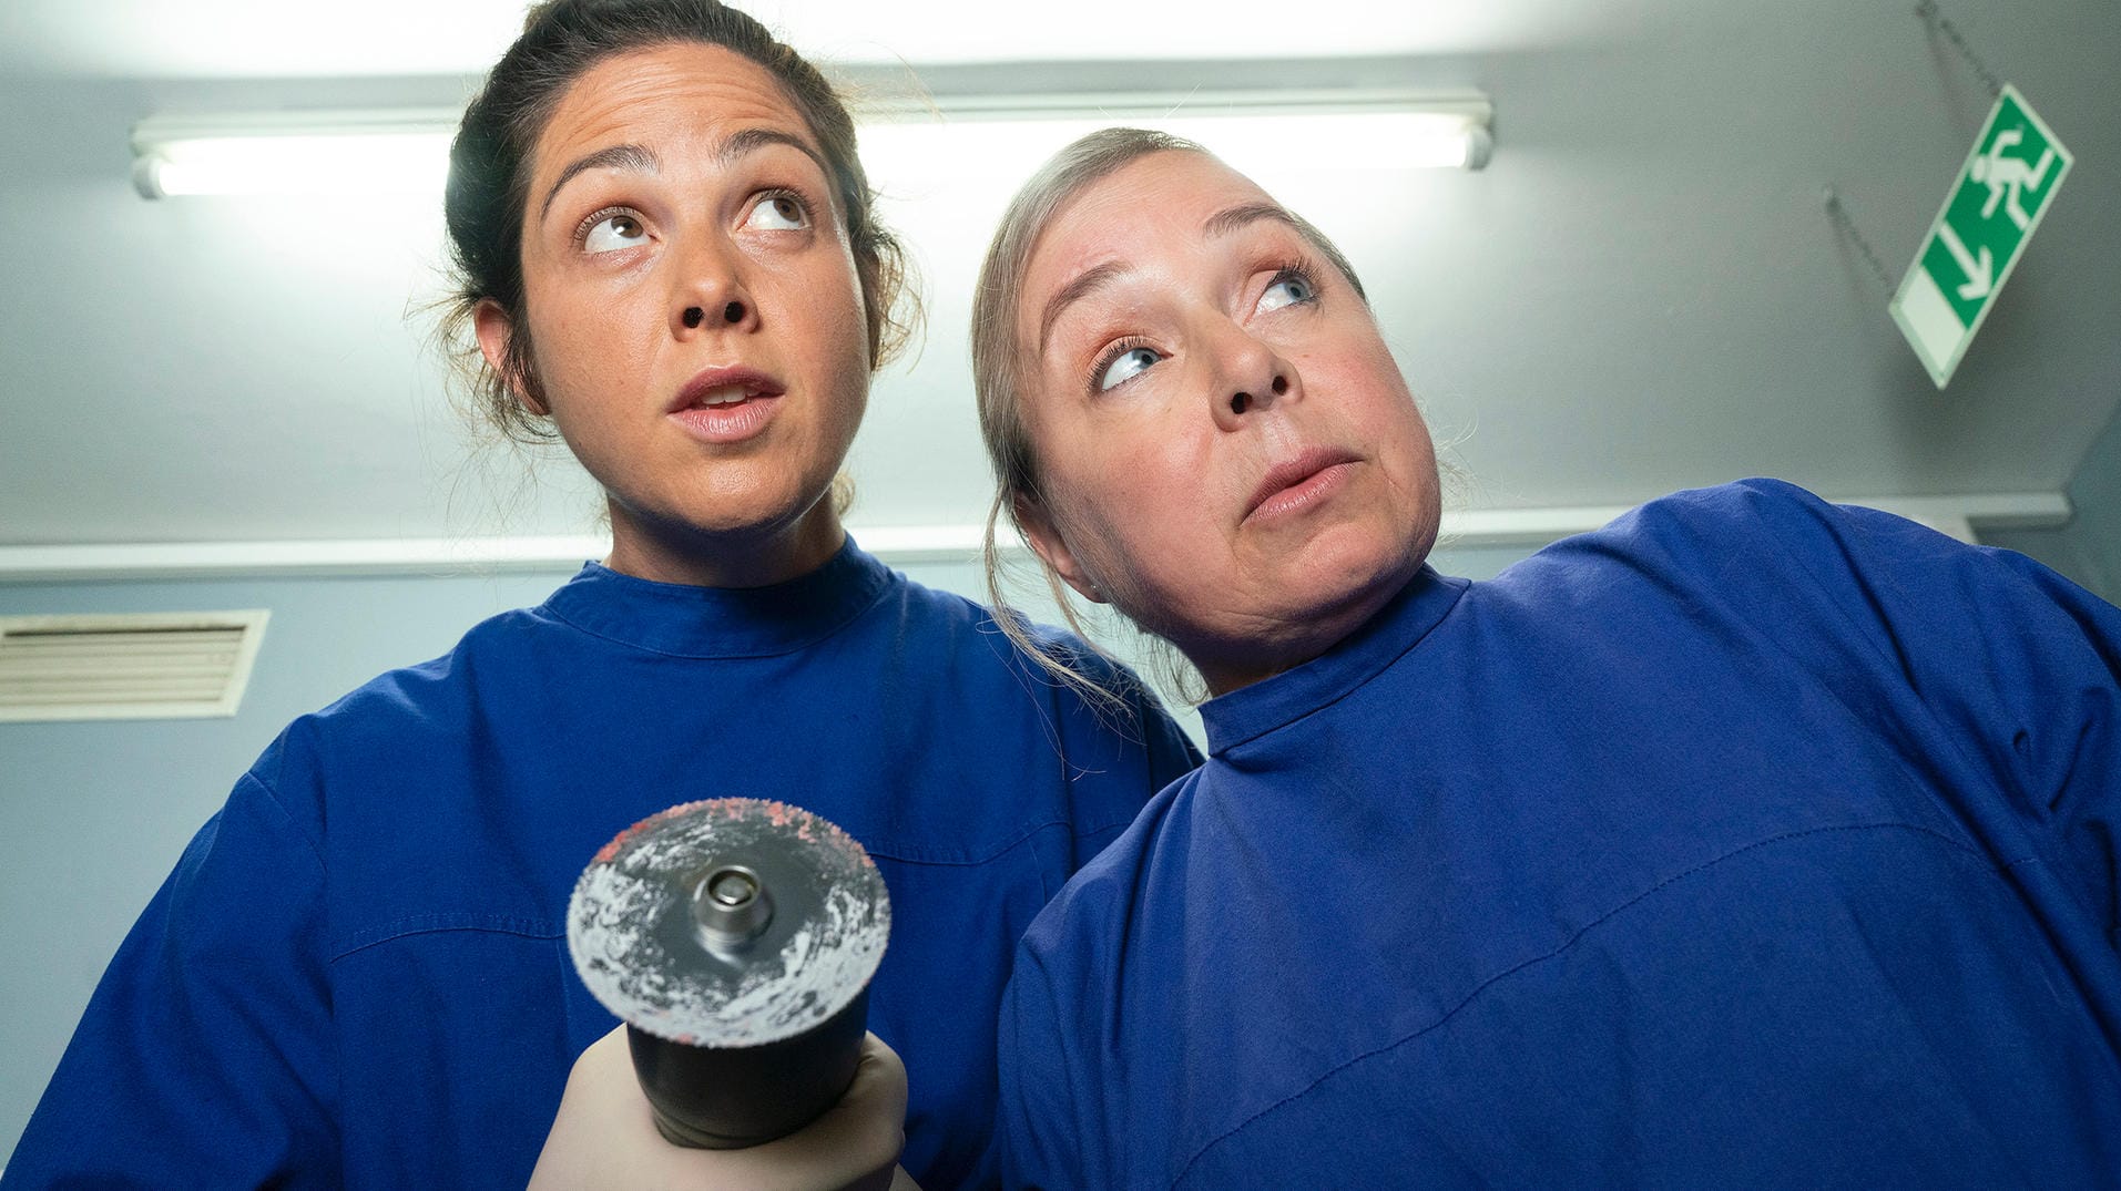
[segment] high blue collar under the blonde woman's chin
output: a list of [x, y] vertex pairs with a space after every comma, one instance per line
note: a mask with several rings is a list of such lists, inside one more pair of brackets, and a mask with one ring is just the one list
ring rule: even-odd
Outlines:
[[1222, 757], [1230, 748], [1324, 710], [1377, 678], [1406, 651], [1421, 644], [1421, 638], [1442, 623], [1468, 587], [1472, 585], [1463, 579], [1451, 579], [1423, 566], [1398, 596], [1340, 644], [1296, 670], [1200, 704], [1209, 757]]

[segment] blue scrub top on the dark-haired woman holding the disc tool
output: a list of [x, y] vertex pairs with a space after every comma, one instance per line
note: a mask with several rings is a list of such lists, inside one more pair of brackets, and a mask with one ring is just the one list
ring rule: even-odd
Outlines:
[[590, 564], [265, 750], [112, 960], [6, 1185], [520, 1189], [615, 1026], [566, 954], [575, 877], [713, 797], [800, 803], [876, 858], [904, 1166], [993, 1183], [1016, 939], [1194, 763], [1130, 691], [1099, 718], [853, 543], [749, 591]]

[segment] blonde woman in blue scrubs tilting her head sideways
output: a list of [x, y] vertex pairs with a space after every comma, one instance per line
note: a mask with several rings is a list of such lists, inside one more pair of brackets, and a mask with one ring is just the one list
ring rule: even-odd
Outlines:
[[1018, 195], [976, 371], [1046, 564], [1209, 761], [1024, 937], [1031, 1187], [2121, 1174], [2121, 612], [1775, 481], [1489, 583], [1340, 254], [1196, 146]]

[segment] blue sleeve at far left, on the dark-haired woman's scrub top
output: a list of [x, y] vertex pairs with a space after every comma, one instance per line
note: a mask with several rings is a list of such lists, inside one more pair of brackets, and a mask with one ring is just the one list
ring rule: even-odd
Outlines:
[[104, 973], [8, 1187], [337, 1183], [322, 884], [246, 776]]

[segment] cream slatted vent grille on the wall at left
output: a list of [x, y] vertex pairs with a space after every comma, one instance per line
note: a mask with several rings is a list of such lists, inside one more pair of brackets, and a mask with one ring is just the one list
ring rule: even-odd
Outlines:
[[0, 721], [233, 716], [267, 617], [0, 617]]

